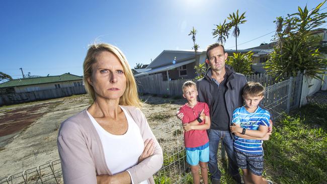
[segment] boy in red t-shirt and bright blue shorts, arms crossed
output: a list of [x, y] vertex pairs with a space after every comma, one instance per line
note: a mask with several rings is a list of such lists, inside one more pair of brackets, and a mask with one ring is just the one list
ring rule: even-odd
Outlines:
[[182, 123], [186, 161], [191, 165], [193, 183], [200, 183], [199, 167], [203, 182], [208, 183], [209, 139], [207, 129], [210, 128], [209, 107], [206, 103], [197, 102], [198, 91], [193, 81], [184, 82], [183, 97], [188, 101], [180, 109], [184, 114]]

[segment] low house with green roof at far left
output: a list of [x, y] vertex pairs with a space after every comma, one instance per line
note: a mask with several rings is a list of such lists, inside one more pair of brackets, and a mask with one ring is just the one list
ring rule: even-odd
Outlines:
[[82, 86], [83, 77], [64, 73], [62, 75], [20, 78], [0, 83], [0, 93], [26, 93], [55, 88]]

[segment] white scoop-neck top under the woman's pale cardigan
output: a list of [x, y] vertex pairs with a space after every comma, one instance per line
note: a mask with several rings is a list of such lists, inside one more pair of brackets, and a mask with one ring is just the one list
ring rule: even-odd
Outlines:
[[[126, 113], [125, 109], [121, 106], [120, 108], [123, 110], [128, 123], [127, 131], [123, 135], [110, 134], [104, 128], [102, 128], [87, 111], [99, 134], [105, 152], [106, 163], [108, 168], [112, 171], [112, 174], [126, 171], [128, 168], [136, 165], [138, 157], [142, 154], [144, 149], [144, 142], [138, 126], [133, 118]], [[140, 183], [148, 184], [146, 180]]]

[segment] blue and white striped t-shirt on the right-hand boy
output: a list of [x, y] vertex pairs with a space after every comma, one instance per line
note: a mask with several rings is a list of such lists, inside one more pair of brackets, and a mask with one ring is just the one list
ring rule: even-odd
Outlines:
[[[270, 114], [267, 110], [261, 109], [259, 106], [254, 113], [249, 113], [246, 108], [240, 107], [234, 110], [231, 123], [239, 124], [242, 128], [250, 130], [258, 130], [259, 126], [270, 126]], [[243, 139], [235, 136], [234, 149], [250, 154], [262, 154], [262, 140]]]

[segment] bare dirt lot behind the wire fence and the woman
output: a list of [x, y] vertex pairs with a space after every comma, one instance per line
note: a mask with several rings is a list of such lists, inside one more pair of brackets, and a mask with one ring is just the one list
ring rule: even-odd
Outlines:
[[[176, 121], [184, 99], [142, 96], [151, 128]], [[0, 178], [59, 159], [60, 123], [89, 106], [87, 95], [0, 107]]]

